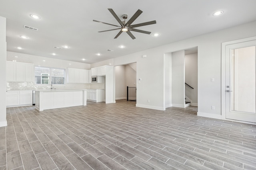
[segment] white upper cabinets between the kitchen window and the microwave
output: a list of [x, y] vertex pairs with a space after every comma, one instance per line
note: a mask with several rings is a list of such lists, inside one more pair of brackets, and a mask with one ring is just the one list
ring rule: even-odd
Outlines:
[[88, 83], [88, 70], [67, 68], [67, 83]]

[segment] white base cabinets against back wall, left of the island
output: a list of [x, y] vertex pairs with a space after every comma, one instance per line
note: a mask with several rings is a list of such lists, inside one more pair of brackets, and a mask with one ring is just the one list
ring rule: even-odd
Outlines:
[[6, 106], [26, 106], [33, 104], [32, 90], [13, 90], [6, 92]]

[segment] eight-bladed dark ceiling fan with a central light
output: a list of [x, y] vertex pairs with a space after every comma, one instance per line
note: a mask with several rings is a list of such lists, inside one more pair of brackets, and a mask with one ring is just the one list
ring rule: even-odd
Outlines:
[[[114, 39], [117, 38], [122, 32], [128, 33], [128, 35], [130, 35], [130, 37], [132, 39], [135, 39], [135, 37], [134, 37], [134, 35], [132, 35], [132, 33], [130, 31], [136, 31], [136, 32], [139, 32], [139, 33], [150, 34], [151, 32], [149, 32], [149, 31], [143, 31], [143, 30], [140, 30], [140, 29], [135, 29], [135, 27], [141, 27], [141, 26], [151, 25], [151, 24], [155, 24], [156, 23], [156, 21], [149, 21], [149, 22], [144, 22], [144, 23], [138, 23], [138, 24], [131, 25], [133, 23], [133, 21], [136, 20], [138, 18], [138, 16], [140, 16], [140, 14], [142, 13], [141, 10], [138, 10], [132, 16], [132, 18], [130, 18], [129, 21], [126, 21], [126, 19], [127, 19], [127, 15], [126, 14], [122, 15], [122, 18], [124, 19], [124, 21], [121, 21], [118, 18], [118, 16], [116, 15], [116, 13], [112, 9], [108, 9], [108, 10], [114, 16], [114, 18], [116, 18], [116, 20], [118, 21], [120, 26], [119, 25], [113, 25], [111, 23], [105, 23], [105, 22], [101, 22], [101, 21], [96, 21], [96, 20], [93, 20], [93, 21], [119, 27], [119, 28], [116, 28], [116, 29], [106, 30], [106, 31], [113, 31], [113, 30], [121, 29], [119, 31], [119, 33], [116, 35], [116, 37], [114, 37]], [[99, 31], [99, 33], [106, 32], [106, 31]]]

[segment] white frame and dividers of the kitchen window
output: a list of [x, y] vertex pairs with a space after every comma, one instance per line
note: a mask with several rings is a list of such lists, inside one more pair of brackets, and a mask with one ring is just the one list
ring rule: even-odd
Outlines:
[[49, 70], [50, 70], [50, 72], [49, 72], [49, 75], [48, 75], [48, 77], [49, 77], [49, 84], [42, 84], [42, 74], [48, 74], [48, 73], [41, 73], [41, 83], [40, 84], [37, 84], [36, 82], [35, 82], [35, 85], [36, 86], [50, 86], [51, 85], [51, 82], [52, 82], [52, 77], [62, 77], [62, 76], [52, 76], [52, 70], [53, 69], [59, 69], [59, 70], [63, 70], [64, 71], [64, 76], [63, 76], [63, 78], [64, 78], [64, 83], [63, 84], [52, 84], [52, 85], [54, 85], [54, 86], [64, 86], [64, 85], [66, 85], [66, 69], [64, 69], [64, 68], [55, 68], [55, 67], [45, 67], [45, 66], [35, 66], [35, 75], [34, 75], [34, 78], [36, 78], [36, 76], [39, 76], [39, 75], [36, 75], [36, 67], [39, 67], [39, 68], [49, 68]]

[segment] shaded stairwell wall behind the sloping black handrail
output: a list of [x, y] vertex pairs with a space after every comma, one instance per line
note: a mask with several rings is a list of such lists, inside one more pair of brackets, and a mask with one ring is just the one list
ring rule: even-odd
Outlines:
[[185, 82], [194, 88], [185, 85], [185, 96], [192, 101], [191, 106], [198, 106], [197, 62], [197, 53], [185, 55]]

